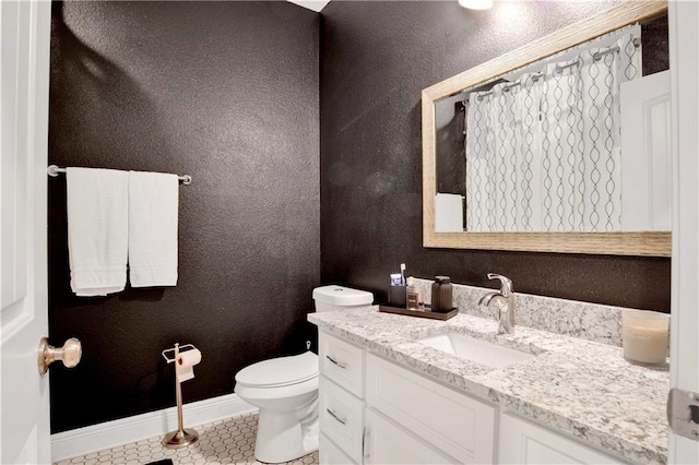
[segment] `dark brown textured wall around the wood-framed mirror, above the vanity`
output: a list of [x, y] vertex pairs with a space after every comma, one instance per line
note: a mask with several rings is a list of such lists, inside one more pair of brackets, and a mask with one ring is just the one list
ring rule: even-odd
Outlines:
[[321, 31], [322, 281], [387, 295], [401, 262], [422, 277], [670, 310], [670, 260], [425, 249], [420, 91], [590, 16], [600, 3], [332, 1]]

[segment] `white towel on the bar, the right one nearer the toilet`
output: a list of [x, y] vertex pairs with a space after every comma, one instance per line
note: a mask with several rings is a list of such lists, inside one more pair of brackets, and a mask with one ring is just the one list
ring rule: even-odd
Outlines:
[[129, 276], [132, 287], [177, 284], [177, 175], [129, 172]]

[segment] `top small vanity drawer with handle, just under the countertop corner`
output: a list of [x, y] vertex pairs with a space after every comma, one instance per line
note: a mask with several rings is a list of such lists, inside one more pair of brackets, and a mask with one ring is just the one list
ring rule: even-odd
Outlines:
[[364, 349], [325, 333], [320, 333], [318, 358], [320, 373], [357, 397], [364, 397]]

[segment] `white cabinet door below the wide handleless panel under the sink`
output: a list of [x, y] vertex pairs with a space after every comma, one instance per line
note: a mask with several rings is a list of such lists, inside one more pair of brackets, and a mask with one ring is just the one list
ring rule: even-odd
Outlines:
[[364, 464], [459, 463], [370, 409], [367, 409], [365, 419]]

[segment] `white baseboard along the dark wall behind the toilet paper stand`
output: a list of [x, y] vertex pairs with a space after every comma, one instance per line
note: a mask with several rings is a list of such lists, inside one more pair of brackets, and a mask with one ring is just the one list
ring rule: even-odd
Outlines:
[[[257, 410], [236, 394], [182, 406], [185, 427], [208, 424]], [[128, 444], [177, 429], [177, 407], [51, 434], [54, 462]]]

